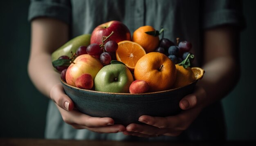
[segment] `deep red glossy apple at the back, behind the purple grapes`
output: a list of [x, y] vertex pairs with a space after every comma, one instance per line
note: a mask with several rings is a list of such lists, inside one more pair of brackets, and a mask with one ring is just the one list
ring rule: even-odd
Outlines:
[[108, 38], [108, 40], [106, 40], [106, 42], [114, 40], [118, 43], [123, 40], [131, 40], [130, 31], [125, 24], [119, 21], [110, 21], [97, 26], [92, 31], [90, 43], [101, 44], [102, 37], [110, 35], [112, 31], [114, 31], [114, 33], [110, 36], [110, 38]]

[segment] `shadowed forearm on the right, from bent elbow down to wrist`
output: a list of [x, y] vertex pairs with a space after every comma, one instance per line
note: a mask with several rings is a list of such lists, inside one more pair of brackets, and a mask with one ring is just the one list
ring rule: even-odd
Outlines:
[[203, 106], [207, 106], [225, 97], [237, 84], [240, 67], [234, 58], [219, 57], [202, 67], [204, 77], [198, 81], [207, 93]]

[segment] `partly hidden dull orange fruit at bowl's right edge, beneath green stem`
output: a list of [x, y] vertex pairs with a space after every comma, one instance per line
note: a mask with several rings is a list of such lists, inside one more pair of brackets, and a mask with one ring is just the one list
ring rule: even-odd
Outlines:
[[190, 67], [184, 68], [182, 65], [175, 64], [177, 75], [173, 88], [186, 86], [195, 80], [195, 75]]

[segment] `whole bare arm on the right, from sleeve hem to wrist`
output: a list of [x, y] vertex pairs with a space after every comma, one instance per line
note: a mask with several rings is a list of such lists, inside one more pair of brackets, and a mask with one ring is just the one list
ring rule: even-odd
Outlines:
[[234, 27], [218, 27], [204, 33], [204, 77], [198, 82], [207, 93], [205, 104], [225, 97], [240, 77], [239, 32]]

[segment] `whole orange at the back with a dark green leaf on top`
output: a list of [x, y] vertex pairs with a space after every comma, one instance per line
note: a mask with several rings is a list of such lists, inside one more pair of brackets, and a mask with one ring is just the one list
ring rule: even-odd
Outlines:
[[132, 35], [132, 42], [137, 42], [140, 44], [146, 51], [146, 53], [153, 52], [159, 45], [159, 36], [149, 35], [145, 32], [155, 31], [151, 26], [142, 26], [136, 29]]

